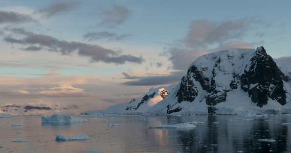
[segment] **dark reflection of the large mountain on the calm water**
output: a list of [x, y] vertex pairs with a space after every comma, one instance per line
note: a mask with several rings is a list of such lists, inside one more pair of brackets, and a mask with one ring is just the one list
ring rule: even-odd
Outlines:
[[[289, 151], [287, 122], [268, 121], [265, 118], [242, 120], [227, 119], [233, 116], [207, 116], [204, 125], [191, 130], [168, 130], [169, 136], [177, 136], [176, 143], [184, 152], [284, 152]], [[280, 117], [279, 117], [280, 118]], [[169, 122], [173, 122], [168, 118]], [[178, 122], [183, 121], [178, 119]], [[259, 142], [258, 139], [273, 139], [276, 142]]]

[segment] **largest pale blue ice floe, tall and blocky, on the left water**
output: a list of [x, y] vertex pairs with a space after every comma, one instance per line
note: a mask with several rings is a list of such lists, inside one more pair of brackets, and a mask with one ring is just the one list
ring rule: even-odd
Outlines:
[[42, 122], [87, 122], [86, 119], [81, 119], [78, 117], [72, 117], [70, 115], [64, 114], [54, 114], [54, 115], [43, 115], [41, 117]]

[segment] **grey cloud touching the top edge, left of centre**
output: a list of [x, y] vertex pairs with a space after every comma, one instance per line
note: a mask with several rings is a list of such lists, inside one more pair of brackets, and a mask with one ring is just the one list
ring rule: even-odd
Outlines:
[[55, 1], [52, 1], [50, 5], [42, 9], [39, 9], [35, 11], [34, 13], [42, 14], [42, 17], [44, 18], [50, 18], [52, 16], [71, 12], [74, 9], [76, 9], [78, 6], [80, 6], [80, 4], [81, 2], [77, 2], [77, 1], [55, 0]]

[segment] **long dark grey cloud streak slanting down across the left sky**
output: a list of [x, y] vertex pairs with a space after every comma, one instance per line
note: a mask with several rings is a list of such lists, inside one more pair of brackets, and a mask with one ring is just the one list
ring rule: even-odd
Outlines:
[[141, 64], [144, 61], [142, 57], [135, 57], [132, 55], [120, 55], [120, 52], [106, 49], [96, 44], [58, 40], [54, 37], [35, 34], [25, 29], [14, 28], [7, 30], [9, 30], [13, 34], [24, 35], [24, 37], [20, 39], [15, 39], [10, 36], [6, 36], [3, 40], [9, 43], [30, 45], [29, 47], [22, 48], [23, 50], [27, 51], [37, 51], [40, 49], [44, 49], [49, 50], [50, 52], [59, 52], [62, 55], [72, 55], [73, 52], [77, 52], [79, 56], [88, 58], [90, 62], [104, 62], [115, 64], [124, 64], [126, 62], [130, 62]]

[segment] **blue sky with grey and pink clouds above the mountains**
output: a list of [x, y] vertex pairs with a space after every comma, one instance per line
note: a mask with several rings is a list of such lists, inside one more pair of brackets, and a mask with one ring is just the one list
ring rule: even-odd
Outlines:
[[0, 105], [106, 109], [179, 83], [204, 54], [291, 62], [291, 1], [0, 0]]

